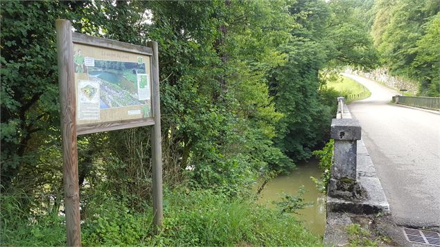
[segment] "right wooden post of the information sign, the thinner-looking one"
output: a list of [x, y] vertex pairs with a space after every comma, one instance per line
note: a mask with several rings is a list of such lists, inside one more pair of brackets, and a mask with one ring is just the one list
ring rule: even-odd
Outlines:
[[155, 118], [155, 125], [151, 129], [151, 152], [152, 152], [152, 203], [154, 223], [160, 227], [164, 219], [162, 205], [162, 140], [161, 140], [161, 115], [159, 97], [159, 51], [157, 42], [148, 42], [152, 48], [152, 110]]

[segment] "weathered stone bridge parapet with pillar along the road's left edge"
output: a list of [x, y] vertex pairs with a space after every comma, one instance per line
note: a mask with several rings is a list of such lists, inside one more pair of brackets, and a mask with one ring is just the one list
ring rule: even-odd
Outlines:
[[337, 116], [331, 124], [335, 146], [327, 192], [326, 246], [346, 244], [344, 229], [352, 223], [346, 214], [389, 213], [385, 192], [361, 138], [360, 123], [351, 117], [344, 98], [337, 100]]

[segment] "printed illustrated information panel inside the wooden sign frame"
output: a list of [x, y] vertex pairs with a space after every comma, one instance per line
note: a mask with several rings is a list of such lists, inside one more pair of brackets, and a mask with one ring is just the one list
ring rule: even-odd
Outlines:
[[74, 69], [79, 124], [151, 116], [146, 56], [76, 47]]

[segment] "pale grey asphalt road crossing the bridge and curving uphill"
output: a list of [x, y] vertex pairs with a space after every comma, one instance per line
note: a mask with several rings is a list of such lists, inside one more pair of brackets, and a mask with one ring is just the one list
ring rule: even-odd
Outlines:
[[344, 74], [371, 91], [349, 104], [396, 223], [440, 226], [440, 114], [389, 104], [398, 92]]

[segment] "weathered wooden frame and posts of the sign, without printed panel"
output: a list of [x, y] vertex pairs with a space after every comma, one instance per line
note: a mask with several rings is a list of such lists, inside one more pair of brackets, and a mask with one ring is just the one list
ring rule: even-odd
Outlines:
[[[157, 42], [149, 42], [148, 47], [145, 47], [73, 33], [71, 22], [66, 19], [58, 19], [55, 22], [55, 26], [58, 51], [58, 81], [60, 84], [64, 209], [66, 214], [67, 246], [81, 246], [77, 136], [82, 134], [151, 126], [153, 221], [156, 226], [161, 226], [163, 221], [163, 203], [159, 55]], [[152, 117], [77, 125], [77, 91], [73, 44], [147, 55], [150, 59], [150, 92], [152, 92], [150, 100], [152, 104]]]

